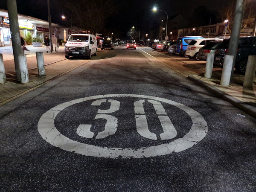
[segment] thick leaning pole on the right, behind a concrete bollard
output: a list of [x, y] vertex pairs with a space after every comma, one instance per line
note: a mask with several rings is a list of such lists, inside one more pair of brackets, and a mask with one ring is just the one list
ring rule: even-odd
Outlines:
[[235, 11], [235, 18], [233, 19], [233, 27], [230, 37], [230, 42], [228, 46], [228, 53], [227, 55], [233, 55], [233, 68], [231, 70], [230, 82], [233, 80], [233, 73], [234, 67], [236, 62], [236, 53], [240, 38], [241, 26], [244, 17], [244, 7], [245, 7], [245, 0], [236, 0], [236, 11]]

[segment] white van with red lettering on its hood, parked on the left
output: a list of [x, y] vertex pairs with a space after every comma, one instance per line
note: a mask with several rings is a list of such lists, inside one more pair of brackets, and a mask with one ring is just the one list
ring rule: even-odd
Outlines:
[[97, 55], [97, 41], [95, 35], [72, 34], [68, 38], [64, 48], [65, 57], [85, 56], [91, 58], [92, 54]]

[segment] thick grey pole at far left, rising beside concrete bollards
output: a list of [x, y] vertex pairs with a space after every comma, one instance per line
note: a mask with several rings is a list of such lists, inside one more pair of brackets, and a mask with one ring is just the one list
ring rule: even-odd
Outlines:
[[16, 0], [7, 0], [8, 16], [10, 20], [10, 30], [12, 35], [12, 50], [15, 64], [16, 77], [20, 80], [20, 67], [18, 55], [22, 54], [20, 42], [20, 28], [17, 12]]

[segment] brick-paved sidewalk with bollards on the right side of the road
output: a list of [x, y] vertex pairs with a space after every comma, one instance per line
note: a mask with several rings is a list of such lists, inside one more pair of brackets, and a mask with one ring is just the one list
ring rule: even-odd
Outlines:
[[[159, 55], [154, 55], [159, 61], [163, 62], [173, 70], [188, 77], [190, 80], [207, 88], [212, 93], [215, 93], [217, 96], [256, 118], [256, 77], [253, 81], [253, 87], [248, 88], [243, 87], [244, 75], [234, 73], [233, 83], [230, 83], [230, 86], [225, 88], [220, 85], [222, 73], [220, 67], [214, 66], [212, 78], [207, 79], [204, 78], [205, 61], [193, 61], [189, 58], [168, 53], [158, 51], [153, 52]], [[160, 57], [160, 55], [164, 55], [165, 57]]]

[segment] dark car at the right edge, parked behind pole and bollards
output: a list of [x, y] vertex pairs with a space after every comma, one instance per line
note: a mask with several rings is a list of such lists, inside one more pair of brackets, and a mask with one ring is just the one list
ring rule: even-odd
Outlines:
[[[229, 41], [229, 39], [226, 39], [222, 44], [216, 47], [214, 64], [220, 65], [221, 67], [223, 66], [224, 56], [228, 52]], [[235, 61], [235, 69], [238, 73], [245, 73], [249, 55], [256, 55], [256, 36], [239, 39]]]

